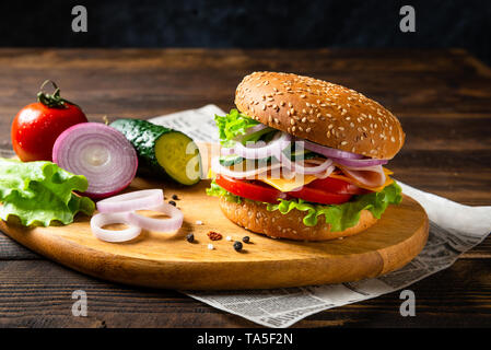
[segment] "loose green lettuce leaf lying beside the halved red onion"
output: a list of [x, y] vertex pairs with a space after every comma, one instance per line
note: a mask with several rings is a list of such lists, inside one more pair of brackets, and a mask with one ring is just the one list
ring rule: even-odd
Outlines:
[[17, 217], [25, 225], [69, 224], [78, 212], [91, 215], [95, 205], [72, 191], [87, 189], [82, 175], [71, 174], [51, 162], [27, 162], [0, 158], [0, 218]]

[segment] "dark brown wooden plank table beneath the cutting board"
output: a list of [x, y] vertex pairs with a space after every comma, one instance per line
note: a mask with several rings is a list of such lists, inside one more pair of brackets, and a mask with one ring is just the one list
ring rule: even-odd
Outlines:
[[[466, 205], [491, 205], [491, 69], [451, 50], [0, 49], [0, 145], [45, 79], [91, 120], [152, 117], [214, 103], [256, 70], [337, 82], [397, 115], [407, 142], [396, 178]], [[490, 325], [491, 238], [413, 285], [417, 317], [399, 293], [318, 313], [296, 327]], [[74, 290], [89, 316], [74, 317]], [[0, 327], [255, 327], [175, 291], [115, 285], [39, 257], [0, 233]]]

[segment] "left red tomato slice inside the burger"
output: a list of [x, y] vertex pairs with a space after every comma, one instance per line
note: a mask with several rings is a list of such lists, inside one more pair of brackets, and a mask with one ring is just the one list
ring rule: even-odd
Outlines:
[[242, 180], [217, 174], [215, 183], [235, 196], [252, 200], [277, 203], [278, 198], [287, 198], [282, 191], [256, 180]]

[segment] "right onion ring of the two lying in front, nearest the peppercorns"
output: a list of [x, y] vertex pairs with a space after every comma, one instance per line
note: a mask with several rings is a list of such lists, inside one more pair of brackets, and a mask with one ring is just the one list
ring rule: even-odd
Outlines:
[[159, 211], [171, 217], [169, 219], [152, 219], [140, 215], [135, 211], [126, 213], [128, 222], [133, 225], [150, 231], [172, 232], [179, 230], [183, 225], [183, 212], [169, 203], [162, 203], [159, 207], [151, 208], [152, 211]]

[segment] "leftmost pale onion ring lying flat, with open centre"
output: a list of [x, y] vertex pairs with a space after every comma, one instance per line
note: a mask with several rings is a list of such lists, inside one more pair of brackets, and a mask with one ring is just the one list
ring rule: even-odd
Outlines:
[[[121, 231], [104, 230], [103, 226], [110, 223], [125, 223], [129, 228]], [[137, 237], [141, 228], [132, 225], [126, 213], [98, 213], [91, 219], [91, 230], [92, 233], [102, 241], [105, 242], [127, 242]]]

